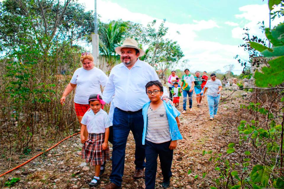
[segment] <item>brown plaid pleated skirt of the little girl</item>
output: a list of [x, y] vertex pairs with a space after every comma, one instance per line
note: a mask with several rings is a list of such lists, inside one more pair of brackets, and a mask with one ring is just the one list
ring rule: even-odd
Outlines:
[[109, 147], [102, 150], [104, 143], [104, 133], [89, 133], [88, 140], [83, 144], [82, 158], [86, 159], [86, 163], [92, 166], [102, 165], [104, 161], [109, 160]]

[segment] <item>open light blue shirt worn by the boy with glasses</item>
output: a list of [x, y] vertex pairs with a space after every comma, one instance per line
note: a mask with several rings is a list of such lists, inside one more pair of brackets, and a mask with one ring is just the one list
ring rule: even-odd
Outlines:
[[[151, 101], [147, 102], [146, 104], [143, 105], [142, 109], [142, 114], [143, 114], [143, 119], [144, 119], [144, 129], [143, 129], [143, 136], [142, 136], [142, 144], [145, 144], [145, 136], [146, 136], [146, 131], [147, 131], [147, 123], [148, 123], [148, 108], [150, 106]], [[181, 140], [183, 137], [180, 134], [180, 130], [178, 129], [178, 124], [177, 121], [175, 120], [176, 117], [180, 115], [180, 112], [173, 107], [170, 102], [166, 103], [163, 101], [164, 107], [166, 109], [166, 114], [170, 126], [170, 134], [172, 140]]]

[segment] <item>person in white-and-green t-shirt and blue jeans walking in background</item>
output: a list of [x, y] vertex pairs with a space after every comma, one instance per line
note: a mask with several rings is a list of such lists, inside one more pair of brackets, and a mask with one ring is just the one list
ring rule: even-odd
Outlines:
[[[181, 86], [182, 86], [182, 92], [183, 92], [183, 112], [182, 114], [186, 113], [186, 100], [187, 96], [189, 99], [189, 111], [192, 112], [192, 93], [193, 93], [193, 87], [194, 87], [194, 76], [189, 74], [188, 68], [184, 70], [185, 75], [183, 75], [181, 81]], [[180, 90], [181, 92], [181, 90]]]

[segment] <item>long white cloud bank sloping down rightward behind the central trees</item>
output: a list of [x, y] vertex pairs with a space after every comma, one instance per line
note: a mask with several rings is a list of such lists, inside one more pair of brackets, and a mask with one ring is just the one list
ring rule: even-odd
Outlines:
[[[87, 0], [79, 0], [80, 3], [87, 4], [87, 10], [93, 10], [94, 3]], [[97, 2], [98, 14], [101, 15], [101, 20], [107, 22], [109, 20], [129, 20], [138, 22], [146, 26], [148, 22], [157, 20], [157, 25], [162, 22], [161, 19], [151, 17], [146, 14], [135, 12], [135, 10], [128, 10], [127, 7], [122, 7], [117, 3], [112, 3], [107, 0], [98, 0]], [[225, 71], [223, 67], [227, 64], [235, 64], [236, 73], [240, 73], [242, 68], [233, 57], [236, 54], [246, 57], [243, 49], [238, 48], [237, 45], [223, 45], [221, 43], [211, 41], [198, 41], [196, 39], [197, 32], [207, 30], [210, 28], [219, 28], [217, 22], [214, 20], [194, 20], [193, 24], [177, 24], [166, 22], [165, 26], [169, 27], [167, 38], [178, 41], [183, 54], [183, 59], [189, 59], [191, 64], [191, 71], [214, 71], [220, 69]], [[177, 34], [179, 31], [180, 34]], [[210, 34], [208, 34], [210, 35]]]

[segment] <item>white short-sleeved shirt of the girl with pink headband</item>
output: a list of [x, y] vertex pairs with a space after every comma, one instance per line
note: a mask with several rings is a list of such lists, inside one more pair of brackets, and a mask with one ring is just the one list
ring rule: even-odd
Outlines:
[[88, 133], [96, 134], [105, 133], [105, 128], [112, 126], [107, 113], [103, 109], [100, 109], [96, 114], [94, 114], [93, 110], [87, 111], [81, 123], [87, 125]]

